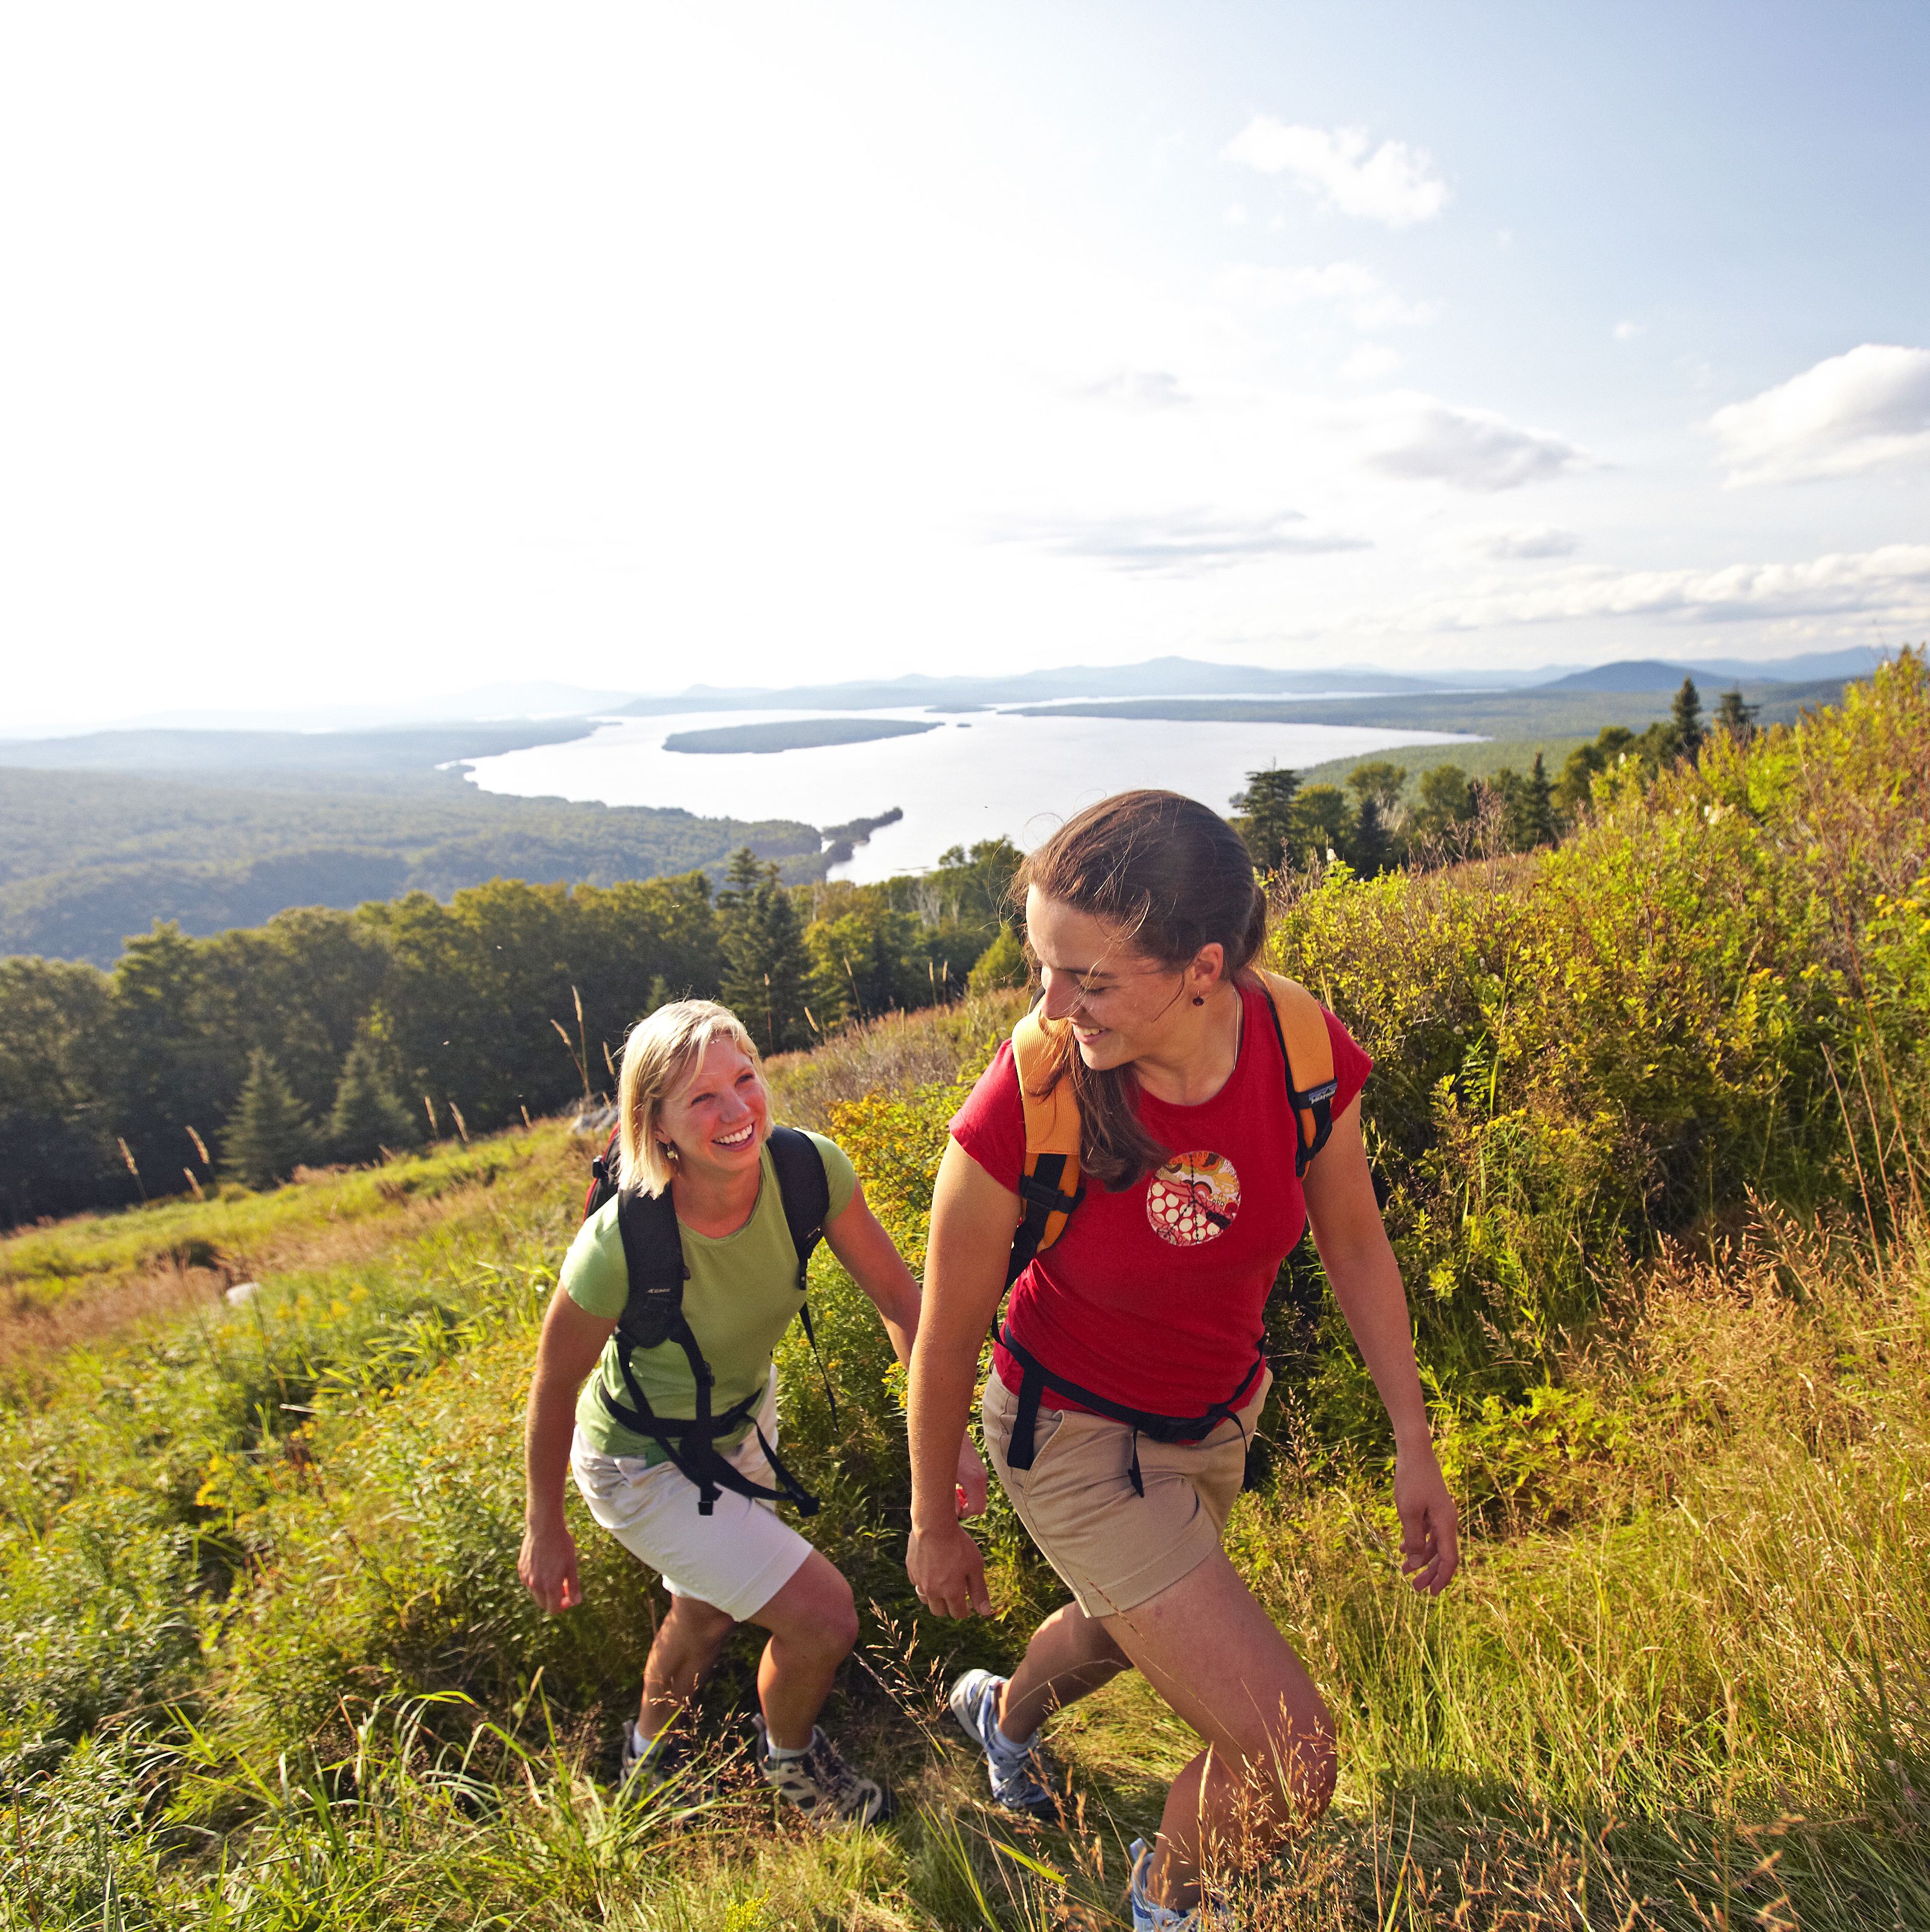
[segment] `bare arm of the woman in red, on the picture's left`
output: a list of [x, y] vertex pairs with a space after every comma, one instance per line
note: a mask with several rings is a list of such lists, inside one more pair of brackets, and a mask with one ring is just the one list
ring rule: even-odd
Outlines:
[[954, 1520], [947, 1470], [958, 1459], [978, 1350], [1005, 1293], [1018, 1196], [956, 1142], [945, 1148], [931, 1196], [925, 1316], [912, 1349], [912, 1540], [904, 1567], [943, 1617], [991, 1615], [985, 1559]]

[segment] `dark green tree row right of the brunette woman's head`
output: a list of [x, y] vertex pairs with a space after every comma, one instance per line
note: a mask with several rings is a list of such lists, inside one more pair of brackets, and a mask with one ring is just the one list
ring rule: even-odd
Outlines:
[[1503, 767], [1470, 779], [1459, 765], [1432, 765], [1408, 796], [1405, 765], [1370, 759], [1339, 784], [1302, 784], [1298, 773], [1252, 771], [1235, 792], [1235, 825], [1262, 871], [1345, 860], [1362, 877], [1395, 866], [1437, 864], [1482, 848], [1532, 852], [1553, 844], [1594, 796], [1594, 782], [1636, 763], [1646, 781], [1663, 767], [1694, 759], [1710, 730], [1748, 738], [1756, 707], [1739, 690], [1723, 692], [1716, 719], [1704, 724], [1702, 694], [1692, 678], [1667, 719], [1634, 732], [1607, 724], [1594, 744], [1576, 746], [1559, 777], [1549, 779], [1542, 753], [1526, 773]]

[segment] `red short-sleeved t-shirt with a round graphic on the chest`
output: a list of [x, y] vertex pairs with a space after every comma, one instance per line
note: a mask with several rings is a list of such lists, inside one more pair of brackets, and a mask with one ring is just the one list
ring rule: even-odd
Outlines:
[[[1005, 1321], [1055, 1374], [1128, 1408], [1198, 1416], [1225, 1403], [1254, 1366], [1262, 1310], [1306, 1225], [1287, 1066], [1267, 995], [1248, 985], [1240, 1057], [1200, 1107], [1140, 1095], [1140, 1119], [1173, 1150], [1157, 1175], [1119, 1194], [1086, 1177], [1064, 1233], [1012, 1283]], [[1372, 1061], [1329, 1012], [1333, 1113], [1354, 1103]], [[1018, 1192], [1026, 1113], [1012, 1045], [979, 1076], [952, 1119], [952, 1140], [999, 1186]], [[1001, 1345], [999, 1379], [1022, 1368]], [[1078, 1408], [1047, 1391], [1055, 1408]]]

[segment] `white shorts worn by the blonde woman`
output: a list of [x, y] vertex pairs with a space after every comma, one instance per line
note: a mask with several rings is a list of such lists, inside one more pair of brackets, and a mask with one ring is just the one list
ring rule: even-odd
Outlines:
[[[757, 1428], [777, 1443], [775, 1366], [757, 1408]], [[752, 1482], [775, 1488], [755, 1430], [723, 1457]], [[657, 1571], [672, 1596], [715, 1604], [738, 1623], [763, 1609], [811, 1553], [775, 1503], [721, 1490], [713, 1513], [699, 1517], [697, 1486], [674, 1463], [603, 1455], [589, 1447], [582, 1430], [570, 1443], [570, 1472], [597, 1522]]]

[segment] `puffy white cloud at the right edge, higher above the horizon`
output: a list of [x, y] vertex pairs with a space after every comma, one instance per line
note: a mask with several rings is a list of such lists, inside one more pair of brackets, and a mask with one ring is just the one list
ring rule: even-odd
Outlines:
[[1864, 342], [1717, 410], [1729, 483], [1797, 483], [1930, 454], [1930, 350]]

